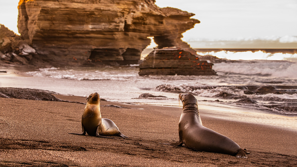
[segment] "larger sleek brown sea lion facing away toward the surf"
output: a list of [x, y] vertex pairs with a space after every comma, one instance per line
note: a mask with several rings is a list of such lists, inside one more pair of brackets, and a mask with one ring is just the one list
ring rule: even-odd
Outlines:
[[245, 150], [241, 149], [233, 140], [202, 125], [197, 99], [188, 93], [178, 95], [183, 103], [183, 111], [178, 123], [179, 142], [161, 143], [170, 146], [183, 144], [196, 151], [217, 152], [247, 158]]

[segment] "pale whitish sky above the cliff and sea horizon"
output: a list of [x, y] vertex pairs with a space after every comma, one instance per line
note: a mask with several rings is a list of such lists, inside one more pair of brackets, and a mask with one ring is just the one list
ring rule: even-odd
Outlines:
[[[19, 0], [0, 0], [0, 23], [18, 32]], [[285, 39], [297, 43], [297, 0], [156, 0], [196, 14], [201, 23], [185, 32], [184, 41]], [[286, 42], [286, 41], [285, 41]]]

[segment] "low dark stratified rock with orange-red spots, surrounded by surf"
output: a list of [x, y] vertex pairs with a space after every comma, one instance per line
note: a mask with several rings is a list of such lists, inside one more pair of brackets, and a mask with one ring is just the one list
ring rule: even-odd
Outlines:
[[140, 64], [139, 75], [216, 75], [213, 65], [181, 49], [155, 49]]

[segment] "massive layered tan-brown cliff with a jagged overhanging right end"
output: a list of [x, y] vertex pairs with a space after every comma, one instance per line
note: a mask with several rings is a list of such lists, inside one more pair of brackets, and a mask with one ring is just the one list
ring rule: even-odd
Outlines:
[[193, 13], [154, 2], [20, 0], [18, 28], [43, 60], [60, 64], [138, 63], [151, 36], [159, 48], [176, 46], [196, 54], [180, 38], [200, 21], [190, 19]]

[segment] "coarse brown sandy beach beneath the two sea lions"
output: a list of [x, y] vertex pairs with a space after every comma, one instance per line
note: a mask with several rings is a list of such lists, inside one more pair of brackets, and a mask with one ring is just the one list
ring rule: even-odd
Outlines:
[[[55, 96], [86, 103], [86, 97]], [[292, 128], [200, 108], [205, 127], [250, 152], [242, 159], [158, 144], [178, 141], [178, 107], [101, 102], [128, 107], [101, 107], [102, 118], [113, 120], [128, 139], [68, 134], [81, 132], [83, 104], [0, 98], [0, 166], [297, 166]]]

